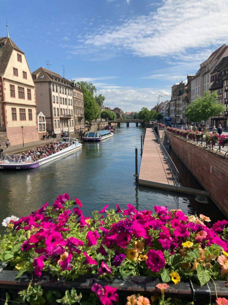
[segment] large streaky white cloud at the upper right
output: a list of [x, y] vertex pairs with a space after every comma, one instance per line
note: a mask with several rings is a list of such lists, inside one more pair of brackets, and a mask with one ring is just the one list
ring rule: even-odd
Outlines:
[[142, 57], [184, 56], [181, 60], [186, 60], [196, 48], [203, 53], [205, 48], [227, 42], [227, 13], [227, 0], [164, 0], [147, 16], [97, 29], [86, 37], [85, 45], [124, 49]]

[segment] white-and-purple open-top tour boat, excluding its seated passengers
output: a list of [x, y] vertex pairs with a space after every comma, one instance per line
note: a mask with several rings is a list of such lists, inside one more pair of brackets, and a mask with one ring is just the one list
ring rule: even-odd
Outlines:
[[[67, 143], [67, 141], [64, 141], [65, 138], [63, 138], [63, 142]], [[69, 139], [69, 138], [67, 138]], [[53, 155], [47, 156], [46, 158], [39, 159], [35, 162], [33, 162], [29, 157], [19, 154], [10, 154], [10, 155], [4, 155], [0, 159], [0, 169], [16, 169], [16, 170], [23, 170], [23, 169], [31, 169], [39, 167], [45, 163], [48, 163], [50, 161], [53, 161], [57, 158], [60, 158], [62, 156], [65, 156], [71, 152], [74, 152], [80, 148], [82, 148], [81, 143], [78, 143], [78, 139], [70, 138], [72, 141], [72, 144], [59, 152], [54, 153]], [[73, 143], [74, 142], [74, 143]]]

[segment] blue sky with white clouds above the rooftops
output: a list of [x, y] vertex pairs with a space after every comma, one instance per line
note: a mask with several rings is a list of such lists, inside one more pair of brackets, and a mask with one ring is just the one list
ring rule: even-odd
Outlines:
[[[227, 0], [0, 0], [0, 37], [40, 66], [90, 81], [105, 106], [151, 109], [228, 44]], [[159, 93], [160, 92], [160, 93]]]

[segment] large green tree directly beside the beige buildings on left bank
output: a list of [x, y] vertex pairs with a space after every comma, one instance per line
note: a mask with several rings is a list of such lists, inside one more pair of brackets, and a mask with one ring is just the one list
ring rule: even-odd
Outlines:
[[95, 102], [92, 92], [86, 89], [83, 85], [81, 85], [81, 88], [84, 91], [85, 120], [91, 123], [100, 117], [101, 110], [98, 104]]

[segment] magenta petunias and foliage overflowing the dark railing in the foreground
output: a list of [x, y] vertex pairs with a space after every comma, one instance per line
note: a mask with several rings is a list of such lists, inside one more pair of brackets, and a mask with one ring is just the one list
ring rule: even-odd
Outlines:
[[29, 216], [3, 221], [4, 304], [112, 305], [126, 296], [128, 305], [165, 304], [164, 292], [182, 296], [183, 304], [199, 304], [202, 294], [208, 302], [227, 297], [228, 221], [211, 224], [202, 214], [167, 206], [138, 211], [131, 204], [85, 217], [81, 207], [64, 194]]

